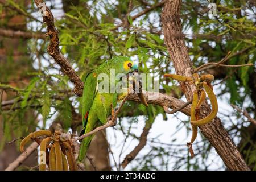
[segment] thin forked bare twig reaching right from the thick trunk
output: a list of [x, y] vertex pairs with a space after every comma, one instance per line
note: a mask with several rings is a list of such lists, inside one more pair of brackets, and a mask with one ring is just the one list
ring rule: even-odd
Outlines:
[[233, 55], [230, 56], [231, 51], [227, 53], [227, 55], [224, 57], [224, 59], [218, 61], [217, 63], [215, 62], [210, 62], [210, 63], [205, 63], [201, 65], [200, 67], [197, 67], [196, 69], [193, 70], [194, 73], [199, 72], [199, 71], [204, 71], [205, 69], [213, 68], [213, 67], [246, 67], [246, 66], [253, 66], [252, 63], [250, 64], [240, 64], [240, 65], [228, 65], [228, 64], [223, 64], [226, 61], [230, 60], [232, 57], [237, 56], [242, 54], [243, 52], [247, 51], [248, 49], [252, 48], [253, 46], [249, 46], [245, 49], [243, 49], [240, 52], [236, 52]]

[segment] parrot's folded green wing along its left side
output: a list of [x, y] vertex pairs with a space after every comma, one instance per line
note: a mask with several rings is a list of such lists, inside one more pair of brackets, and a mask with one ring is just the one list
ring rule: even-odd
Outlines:
[[89, 72], [85, 76], [84, 90], [82, 93], [82, 126], [84, 128], [86, 127], [90, 107], [97, 93], [97, 84], [97, 74], [95, 72]]

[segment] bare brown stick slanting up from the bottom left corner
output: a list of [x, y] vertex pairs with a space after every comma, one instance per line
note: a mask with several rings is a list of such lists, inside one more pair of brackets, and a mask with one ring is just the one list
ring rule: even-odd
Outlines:
[[27, 147], [26, 151], [24, 151], [22, 154], [18, 156], [14, 160], [14, 162], [10, 163], [9, 166], [5, 169], [5, 171], [14, 171], [17, 167], [20, 166], [36, 150], [38, 147], [38, 143], [33, 142], [30, 146]]

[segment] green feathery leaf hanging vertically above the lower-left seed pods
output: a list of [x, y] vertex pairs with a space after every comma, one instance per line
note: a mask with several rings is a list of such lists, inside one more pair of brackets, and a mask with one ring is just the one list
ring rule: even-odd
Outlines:
[[47, 85], [44, 86], [44, 93], [42, 96], [42, 111], [41, 114], [43, 116], [43, 128], [46, 127], [46, 119], [51, 111], [51, 100], [49, 98], [49, 91], [47, 89]]

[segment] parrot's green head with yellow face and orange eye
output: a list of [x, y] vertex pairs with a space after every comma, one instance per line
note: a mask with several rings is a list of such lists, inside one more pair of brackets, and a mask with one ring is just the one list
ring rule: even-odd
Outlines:
[[112, 59], [115, 73], [124, 73], [125, 75], [138, 72], [138, 64], [131, 61], [129, 57], [115, 57]]

